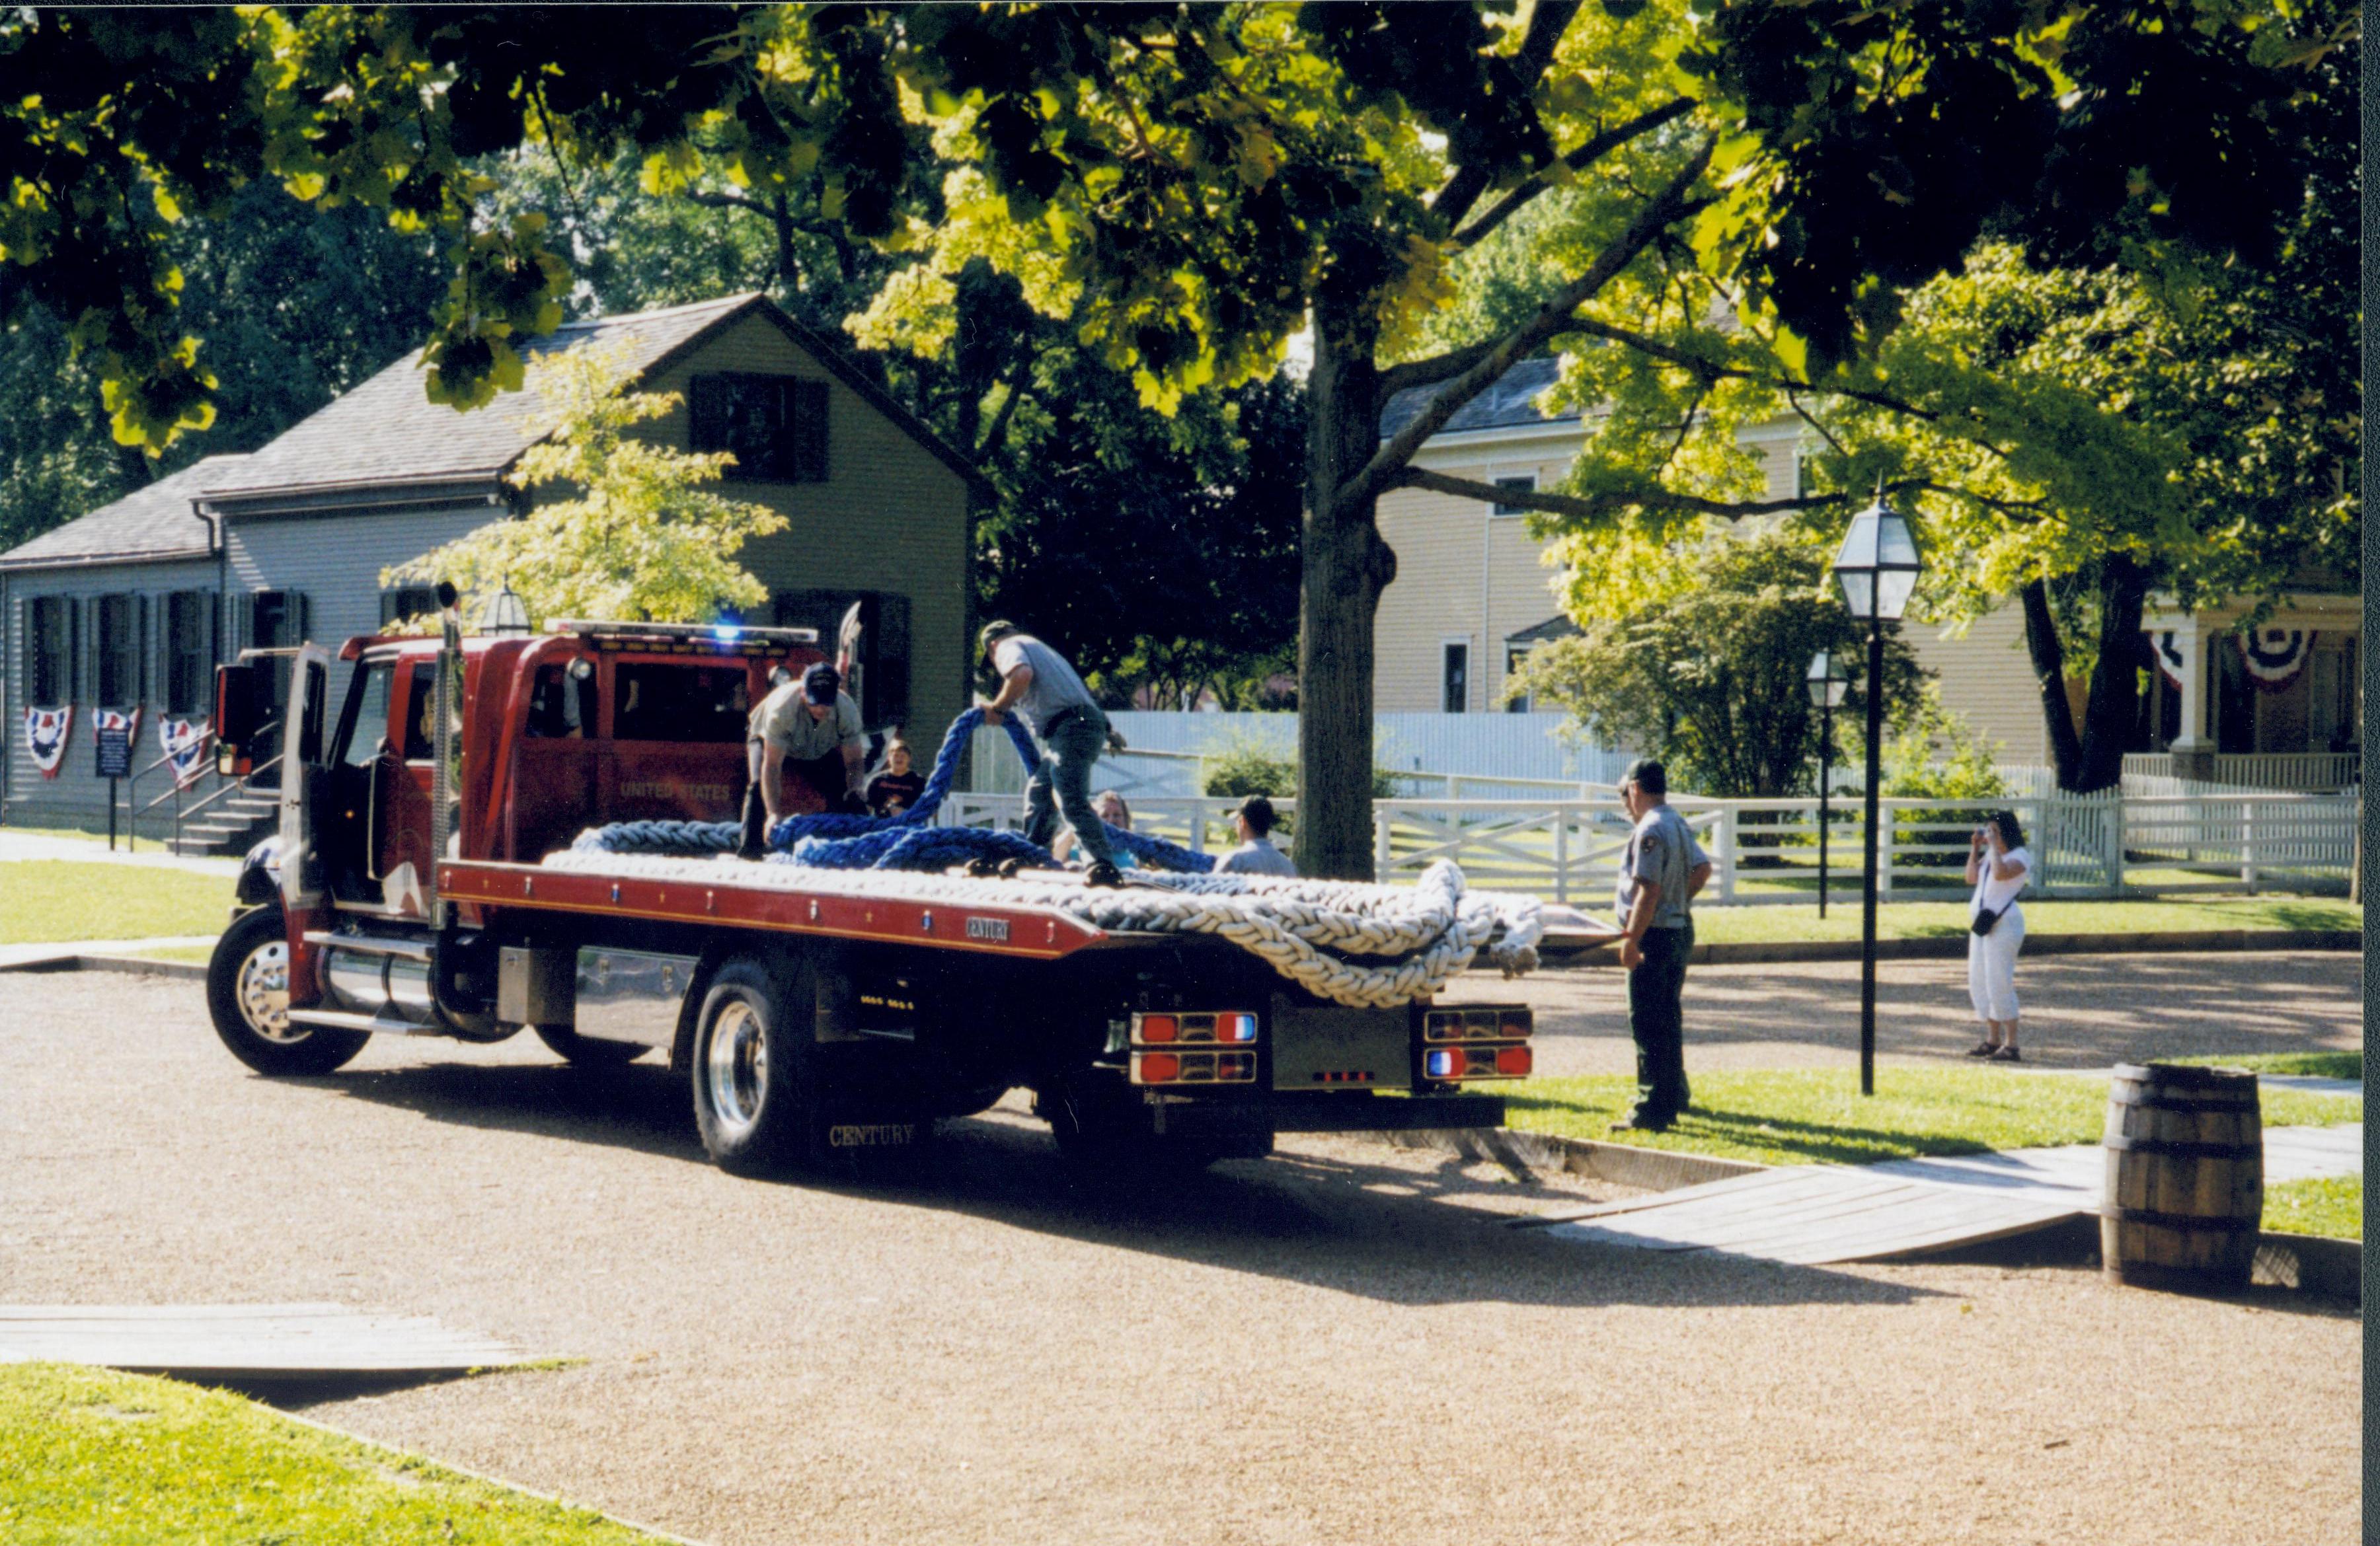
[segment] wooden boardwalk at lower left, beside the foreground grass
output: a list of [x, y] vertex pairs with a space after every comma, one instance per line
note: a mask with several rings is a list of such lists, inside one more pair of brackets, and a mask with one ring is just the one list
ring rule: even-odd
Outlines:
[[428, 1380], [528, 1356], [426, 1315], [343, 1303], [0, 1306], [0, 1363], [36, 1360], [183, 1380]]

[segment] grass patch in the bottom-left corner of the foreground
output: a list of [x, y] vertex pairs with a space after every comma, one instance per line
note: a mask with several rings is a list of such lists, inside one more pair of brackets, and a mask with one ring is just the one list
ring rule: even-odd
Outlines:
[[0, 1368], [0, 1539], [638, 1546], [657, 1536], [171, 1380]]

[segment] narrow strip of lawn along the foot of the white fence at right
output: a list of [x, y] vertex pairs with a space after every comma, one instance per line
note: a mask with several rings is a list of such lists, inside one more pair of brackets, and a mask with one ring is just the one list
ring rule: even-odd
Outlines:
[[[2209, 928], [2361, 930], [2363, 909], [2330, 897], [2209, 897], [2175, 901], [2025, 901], [2028, 935], [2166, 935]], [[1875, 909], [1878, 939], [1947, 939], [1966, 932], [1964, 901], [1887, 901]], [[1859, 939], [1859, 897], [1816, 906], [1695, 909], [1704, 944], [1775, 944], [1780, 939]]]

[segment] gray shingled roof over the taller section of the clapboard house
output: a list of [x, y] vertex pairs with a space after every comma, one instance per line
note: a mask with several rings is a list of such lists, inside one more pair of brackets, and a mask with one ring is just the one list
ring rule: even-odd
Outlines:
[[[664, 312], [574, 321], [531, 340], [526, 352], [533, 362], [550, 350], [595, 342], [621, 350], [628, 369], [643, 373], [757, 300], [757, 293], [726, 295]], [[219, 499], [250, 499], [324, 488], [495, 478], [528, 450], [543, 407], [531, 373], [524, 390], [497, 392], [495, 402], [457, 414], [424, 395], [421, 350], [414, 350], [248, 457], [238, 478], [209, 492]]]

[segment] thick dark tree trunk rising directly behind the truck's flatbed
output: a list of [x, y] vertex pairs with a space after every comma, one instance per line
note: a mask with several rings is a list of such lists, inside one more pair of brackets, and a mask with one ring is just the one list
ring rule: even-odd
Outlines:
[[1376, 499], [1340, 488], [1380, 445], [1380, 373], [1361, 302], [1314, 307], [1307, 519], [1297, 595], [1299, 875], [1371, 880], [1371, 630], [1397, 554]]

